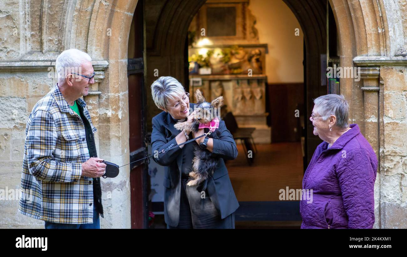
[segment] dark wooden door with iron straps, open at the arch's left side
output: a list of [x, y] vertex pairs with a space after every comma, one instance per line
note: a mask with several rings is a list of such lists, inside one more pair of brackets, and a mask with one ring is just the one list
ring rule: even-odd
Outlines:
[[[130, 162], [147, 156], [146, 94], [144, 90], [144, 1], [139, 0], [129, 33], [127, 77], [129, 81]], [[130, 166], [131, 228], [148, 228], [147, 159]]]

